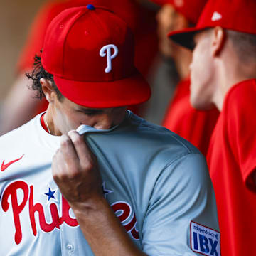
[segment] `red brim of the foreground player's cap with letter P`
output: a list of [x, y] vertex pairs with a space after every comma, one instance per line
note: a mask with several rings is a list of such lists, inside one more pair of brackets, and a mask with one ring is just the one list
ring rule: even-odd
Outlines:
[[84, 107], [107, 108], [137, 105], [151, 96], [149, 84], [136, 72], [129, 78], [110, 82], [80, 82], [54, 76], [61, 94]]

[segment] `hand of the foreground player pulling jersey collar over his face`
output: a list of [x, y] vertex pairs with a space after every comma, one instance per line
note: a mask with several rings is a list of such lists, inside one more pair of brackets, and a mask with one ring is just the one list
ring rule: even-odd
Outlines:
[[53, 156], [53, 179], [70, 204], [86, 203], [102, 197], [96, 156], [76, 131], [61, 137]]

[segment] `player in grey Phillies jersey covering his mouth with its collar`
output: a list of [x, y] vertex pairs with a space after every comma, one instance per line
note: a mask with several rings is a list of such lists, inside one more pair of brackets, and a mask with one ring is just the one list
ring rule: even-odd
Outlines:
[[30, 75], [48, 110], [0, 138], [0, 255], [220, 255], [203, 155], [126, 110], [150, 96], [133, 55], [104, 7], [50, 23]]

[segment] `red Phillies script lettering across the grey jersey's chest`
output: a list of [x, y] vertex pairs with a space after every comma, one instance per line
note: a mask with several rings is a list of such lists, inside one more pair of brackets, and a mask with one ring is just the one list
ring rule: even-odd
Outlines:
[[[17, 191], [20, 189], [23, 191], [22, 200], [18, 200]], [[70, 227], [78, 226], [78, 221], [75, 218], [70, 216], [70, 206], [68, 201], [65, 200], [62, 196], [61, 206], [62, 213], [61, 216], [58, 213], [58, 208], [56, 203], [50, 203], [48, 206], [50, 208], [50, 214], [52, 217], [52, 222], [46, 222], [46, 215], [41, 203], [34, 203], [33, 200], [33, 185], [28, 186], [28, 184], [24, 181], [15, 181], [14, 183], [9, 184], [6, 187], [2, 199], [1, 199], [1, 207], [4, 212], [7, 212], [10, 208], [9, 198], [11, 197], [11, 208], [13, 211], [14, 217], [14, 226], [15, 226], [15, 235], [14, 240], [18, 245], [22, 240], [22, 230], [21, 230], [21, 218], [20, 215], [23, 212], [26, 204], [28, 203], [28, 216], [31, 222], [31, 230], [33, 235], [37, 235], [37, 227], [36, 227], [36, 219], [35, 213], [38, 213], [39, 225], [41, 230], [46, 233], [52, 232], [55, 228], [60, 229], [60, 225], [66, 223]], [[116, 213], [117, 217], [124, 225], [124, 228], [127, 230], [127, 233], [131, 233], [134, 239], [139, 239], [139, 233], [137, 232], [135, 225], [137, 223], [136, 216], [133, 214], [132, 220], [127, 223], [129, 216], [132, 215], [132, 209], [128, 203], [125, 202], [117, 202], [112, 204], [112, 209], [114, 213]], [[118, 214], [119, 213], [119, 214]]]

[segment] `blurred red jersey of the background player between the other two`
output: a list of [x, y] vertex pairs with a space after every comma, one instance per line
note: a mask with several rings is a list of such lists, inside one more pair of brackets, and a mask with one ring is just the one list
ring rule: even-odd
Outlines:
[[206, 156], [219, 111], [217, 109], [195, 110], [189, 100], [189, 87], [189, 79], [178, 83], [174, 99], [167, 109], [163, 126], [187, 139]]

